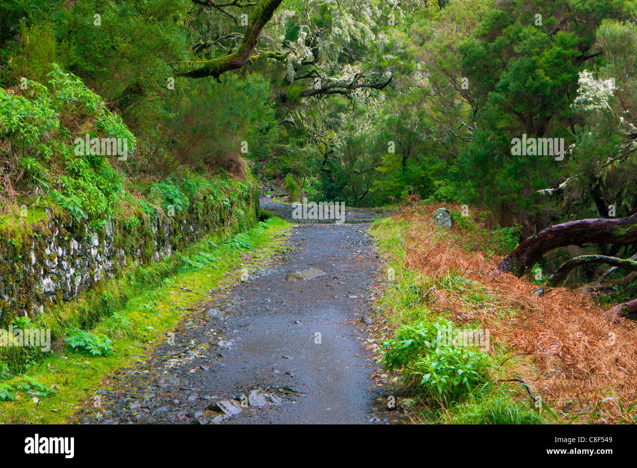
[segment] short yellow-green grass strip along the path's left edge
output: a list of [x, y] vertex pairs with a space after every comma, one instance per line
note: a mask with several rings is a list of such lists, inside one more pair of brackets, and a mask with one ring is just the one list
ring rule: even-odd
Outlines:
[[[150, 271], [152, 274], [127, 276], [127, 294], [134, 295], [103, 300], [106, 292], [87, 294], [77, 304], [69, 303], [58, 311], [59, 323], [68, 323], [78, 316], [78, 308], [90, 308], [89, 302], [98, 302], [94, 307], [110, 307], [110, 314], [103, 316], [91, 332], [104, 334], [113, 341], [113, 352], [104, 356], [93, 356], [87, 351], [72, 351], [62, 344], [62, 350], [51, 353], [42, 362], [34, 365], [22, 376], [7, 379], [1, 384], [15, 383], [19, 379], [36, 379], [50, 390], [47, 397], [34, 401], [28, 390], [18, 391], [14, 401], [0, 402], [2, 423], [65, 423], [83, 402], [89, 401], [96, 388], [108, 385], [108, 375], [120, 367], [134, 364], [140, 356], [146, 356], [154, 344], [166, 339], [166, 331], [185, 315], [185, 309], [196, 309], [210, 297], [212, 290], [231, 287], [238, 281], [239, 269], [250, 271], [271, 259], [282, 243], [290, 224], [279, 218], [270, 218], [259, 223], [245, 234], [241, 241], [229, 239], [217, 245], [204, 239], [192, 246], [188, 252], [173, 255], [175, 259], [159, 262]], [[246, 243], [251, 250], [247, 251]], [[168, 266], [170, 265], [170, 266]], [[159, 271], [175, 274], [161, 279]], [[159, 283], [159, 284], [158, 284]], [[115, 288], [117, 290], [117, 288]], [[113, 295], [113, 294], [111, 294]], [[105, 304], [105, 305], [104, 305]], [[117, 304], [117, 306], [113, 306]], [[41, 318], [46, 321], [47, 318]], [[144, 349], [147, 348], [147, 349]]]

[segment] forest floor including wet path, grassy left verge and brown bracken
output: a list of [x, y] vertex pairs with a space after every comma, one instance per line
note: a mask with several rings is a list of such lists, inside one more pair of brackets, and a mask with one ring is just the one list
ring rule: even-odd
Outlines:
[[[134, 330], [112, 355], [61, 353], [36, 366], [29, 378], [54, 394], [4, 402], [0, 415], [89, 424], [632, 422], [633, 323], [608, 322], [567, 288], [539, 297], [528, 278], [490, 278], [501, 259], [492, 249], [510, 250], [508, 238], [458, 206], [447, 207], [454, 227], [443, 229], [431, 220], [438, 206], [406, 206], [373, 223], [382, 212], [347, 208], [341, 225], [271, 218], [247, 233], [250, 246], [231, 239], [214, 262], [118, 311]], [[289, 204], [262, 208], [291, 217]], [[491, 337], [488, 381], [450, 406], [378, 362], [399, 327], [441, 318]]]

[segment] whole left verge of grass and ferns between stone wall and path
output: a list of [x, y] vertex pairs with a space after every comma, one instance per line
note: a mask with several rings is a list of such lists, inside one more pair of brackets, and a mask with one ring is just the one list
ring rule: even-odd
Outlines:
[[52, 348], [5, 348], [29, 353], [32, 360], [21, 359], [21, 369], [0, 364], [0, 422], [66, 422], [108, 385], [111, 372], [143, 360], [214, 290], [234, 285], [241, 269], [271, 260], [287, 229], [289, 223], [269, 218], [222, 243], [208, 237], [50, 313], [16, 319], [14, 327], [52, 329]]

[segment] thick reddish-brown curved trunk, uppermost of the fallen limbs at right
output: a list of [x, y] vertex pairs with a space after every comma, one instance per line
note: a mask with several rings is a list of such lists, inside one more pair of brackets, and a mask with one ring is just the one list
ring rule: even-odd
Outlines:
[[637, 213], [627, 218], [592, 218], [549, 226], [517, 246], [497, 265], [491, 276], [513, 273], [519, 278], [534, 264], [540, 262], [542, 255], [550, 250], [567, 245], [581, 247], [586, 243], [637, 243]]

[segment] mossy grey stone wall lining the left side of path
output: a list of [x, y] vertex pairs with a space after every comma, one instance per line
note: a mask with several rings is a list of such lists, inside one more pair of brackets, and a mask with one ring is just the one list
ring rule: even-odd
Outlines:
[[208, 234], [225, 239], [249, 229], [258, 207], [256, 192], [229, 204], [203, 197], [173, 217], [114, 218], [97, 229], [51, 209], [28, 234], [0, 233], [0, 325], [72, 301], [124, 269], [157, 262]]

